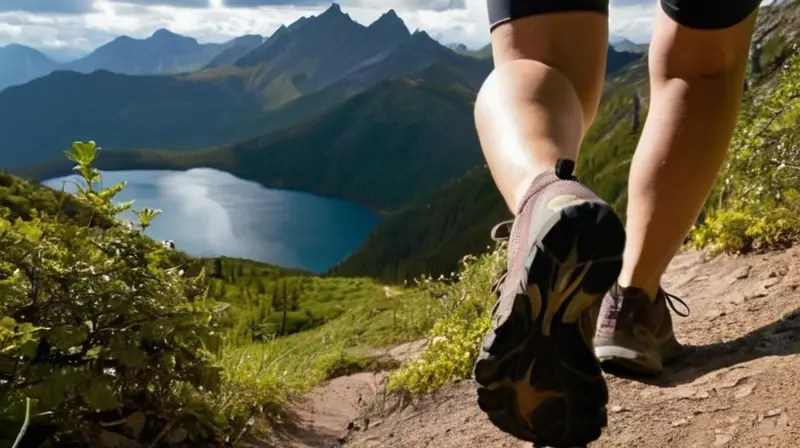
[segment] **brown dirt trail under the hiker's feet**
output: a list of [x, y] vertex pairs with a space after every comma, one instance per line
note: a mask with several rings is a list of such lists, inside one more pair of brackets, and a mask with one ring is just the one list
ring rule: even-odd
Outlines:
[[[609, 427], [591, 446], [797, 446], [798, 286], [800, 247], [769, 255], [710, 261], [698, 253], [677, 257], [665, 287], [692, 308], [688, 318], [675, 319], [676, 333], [688, 346], [686, 356], [652, 384], [608, 377]], [[418, 344], [410, 352], [419, 348]], [[400, 410], [373, 412], [370, 424], [364, 425], [363, 419], [356, 418], [358, 410], [353, 410], [354, 402], [356, 408], [359, 406], [355, 390], [360, 391], [362, 405], [373, 407], [376, 399], [369, 399], [378, 390], [355, 386], [361, 384], [364, 375], [369, 374], [331, 381], [312, 392], [307, 404], [301, 404], [315, 408], [320, 403], [330, 403], [337, 407], [330, 415], [311, 413], [312, 426], [307, 427], [330, 427], [338, 430], [338, 436], [346, 437], [344, 445], [337, 441], [335, 445], [307, 446], [530, 447], [488, 423], [476, 406], [469, 381], [449, 386]], [[335, 399], [331, 401], [329, 397]], [[361, 409], [363, 415], [364, 408]], [[348, 431], [347, 425], [354, 420], [356, 427]]]

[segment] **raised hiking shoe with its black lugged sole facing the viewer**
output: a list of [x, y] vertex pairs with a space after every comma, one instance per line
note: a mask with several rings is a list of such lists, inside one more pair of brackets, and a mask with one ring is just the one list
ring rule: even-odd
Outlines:
[[617, 279], [625, 230], [611, 207], [572, 176], [574, 162], [537, 177], [493, 287], [493, 329], [475, 364], [478, 405], [502, 431], [534, 446], [584, 446], [607, 424], [608, 390], [583, 313]]

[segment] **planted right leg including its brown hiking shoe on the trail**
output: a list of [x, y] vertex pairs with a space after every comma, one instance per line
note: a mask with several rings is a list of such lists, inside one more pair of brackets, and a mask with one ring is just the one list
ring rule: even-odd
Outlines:
[[604, 366], [657, 374], [680, 348], [659, 284], [730, 144], [759, 3], [662, 0], [649, 53], [650, 112], [628, 183], [623, 268], [595, 341]]

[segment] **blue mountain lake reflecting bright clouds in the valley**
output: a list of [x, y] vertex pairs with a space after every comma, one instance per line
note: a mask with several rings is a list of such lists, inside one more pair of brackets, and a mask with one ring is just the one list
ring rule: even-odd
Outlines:
[[[74, 186], [49, 179], [67, 191]], [[110, 171], [103, 183], [127, 180], [118, 201], [164, 211], [147, 234], [173, 240], [198, 256], [225, 255], [323, 272], [358, 249], [380, 222], [378, 214], [345, 201], [274, 190], [209, 168], [188, 171]], [[133, 220], [125, 213], [123, 219]]]

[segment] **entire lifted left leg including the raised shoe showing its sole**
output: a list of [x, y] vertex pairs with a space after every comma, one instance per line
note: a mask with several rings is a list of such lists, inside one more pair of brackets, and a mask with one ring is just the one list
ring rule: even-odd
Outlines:
[[583, 446], [608, 391], [583, 311], [611, 287], [625, 244], [613, 210], [572, 176], [597, 110], [607, 0], [488, 0], [495, 69], [475, 106], [481, 146], [516, 217], [493, 328], [475, 365], [478, 404], [536, 446]]

